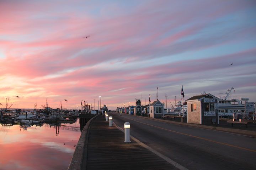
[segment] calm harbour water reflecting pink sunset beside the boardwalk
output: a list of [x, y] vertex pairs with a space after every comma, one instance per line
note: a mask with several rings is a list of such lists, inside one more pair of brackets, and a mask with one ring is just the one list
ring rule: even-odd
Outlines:
[[0, 170], [66, 170], [80, 135], [79, 119], [60, 126], [0, 124]]

